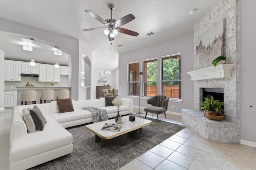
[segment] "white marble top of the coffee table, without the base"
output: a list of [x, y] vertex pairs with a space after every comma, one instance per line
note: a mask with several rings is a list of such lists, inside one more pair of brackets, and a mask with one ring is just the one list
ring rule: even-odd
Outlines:
[[120, 132], [110, 132], [110, 131], [102, 131], [102, 127], [105, 123], [116, 123], [116, 119], [110, 119], [106, 121], [101, 121], [98, 123], [92, 123], [89, 125], [86, 125], [86, 129], [97, 135], [98, 137], [102, 139], [112, 139], [114, 137], [123, 135], [125, 133], [128, 133], [130, 131], [134, 131], [136, 129], [140, 129], [141, 127], [150, 125], [152, 121], [143, 119], [140, 117], [136, 117], [135, 121], [129, 121], [129, 115], [122, 116], [122, 127]]

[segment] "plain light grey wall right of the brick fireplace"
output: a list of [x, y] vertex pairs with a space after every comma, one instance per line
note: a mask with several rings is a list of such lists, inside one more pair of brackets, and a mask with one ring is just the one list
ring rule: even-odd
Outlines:
[[255, 0], [241, 0], [241, 140], [254, 142], [254, 147], [256, 147], [255, 9]]

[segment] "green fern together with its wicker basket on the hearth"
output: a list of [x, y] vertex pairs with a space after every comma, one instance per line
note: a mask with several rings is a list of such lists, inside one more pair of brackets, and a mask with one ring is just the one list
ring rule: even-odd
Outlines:
[[[223, 119], [224, 115], [222, 115], [221, 113], [221, 111], [223, 111], [221, 106], [224, 106], [223, 102], [220, 102], [219, 100], [214, 100], [214, 98], [211, 96], [211, 98], [204, 98], [204, 102], [202, 102], [200, 106], [200, 109], [204, 109], [204, 116], [206, 116], [208, 119]], [[222, 118], [218, 116], [221, 116]]]

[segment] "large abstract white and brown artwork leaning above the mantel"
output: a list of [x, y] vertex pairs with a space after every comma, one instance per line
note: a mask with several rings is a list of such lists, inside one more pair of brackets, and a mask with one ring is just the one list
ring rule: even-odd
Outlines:
[[211, 66], [212, 60], [222, 55], [225, 19], [219, 21], [196, 39], [194, 69]]

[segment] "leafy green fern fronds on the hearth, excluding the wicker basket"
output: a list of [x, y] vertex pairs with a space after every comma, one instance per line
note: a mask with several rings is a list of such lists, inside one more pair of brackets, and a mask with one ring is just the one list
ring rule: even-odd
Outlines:
[[214, 100], [214, 98], [211, 96], [211, 98], [204, 98], [204, 102], [200, 104], [200, 109], [204, 109], [209, 115], [217, 115], [218, 112], [223, 111], [221, 106], [224, 106], [223, 102], [220, 102], [219, 100]]

